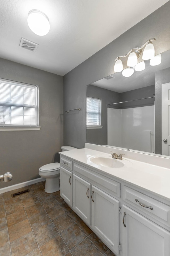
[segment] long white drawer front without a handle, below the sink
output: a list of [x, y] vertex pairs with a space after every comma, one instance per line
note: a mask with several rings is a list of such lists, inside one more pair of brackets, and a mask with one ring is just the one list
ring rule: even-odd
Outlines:
[[91, 179], [92, 181], [95, 181], [97, 184], [100, 184], [103, 191], [105, 191], [106, 193], [120, 197], [119, 182], [113, 181], [112, 179], [97, 174], [81, 165], [78, 165], [77, 163], [74, 163], [74, 171], [75, 173], [81, 174], [84, 177]]

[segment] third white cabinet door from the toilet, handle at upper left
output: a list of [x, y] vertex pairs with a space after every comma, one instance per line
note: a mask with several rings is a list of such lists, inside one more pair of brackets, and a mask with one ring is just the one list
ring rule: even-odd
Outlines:
[[95, 186], [92, 186], [91, 198], [92, 227], [118, 254], [120, 202]]

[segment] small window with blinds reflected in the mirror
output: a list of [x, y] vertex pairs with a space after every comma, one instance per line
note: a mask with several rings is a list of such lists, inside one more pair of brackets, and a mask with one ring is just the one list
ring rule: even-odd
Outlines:
[[87, 129], [101, 128], [101, 99], [87, 97]]

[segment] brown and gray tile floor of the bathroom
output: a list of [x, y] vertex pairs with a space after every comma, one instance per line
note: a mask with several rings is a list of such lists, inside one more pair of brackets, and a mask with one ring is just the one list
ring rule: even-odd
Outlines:
[[[45, 182], [0, 194], [1, 256], [115, 256]], [[30, 192], [11, 197], [29, 189]]]

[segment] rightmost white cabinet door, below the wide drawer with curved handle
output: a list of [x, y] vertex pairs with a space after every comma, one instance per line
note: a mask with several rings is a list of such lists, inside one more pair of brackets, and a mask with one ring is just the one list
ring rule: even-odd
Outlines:
[[124, 205], [122, 215], [123, 256], [170, 255], [170, 232]]

